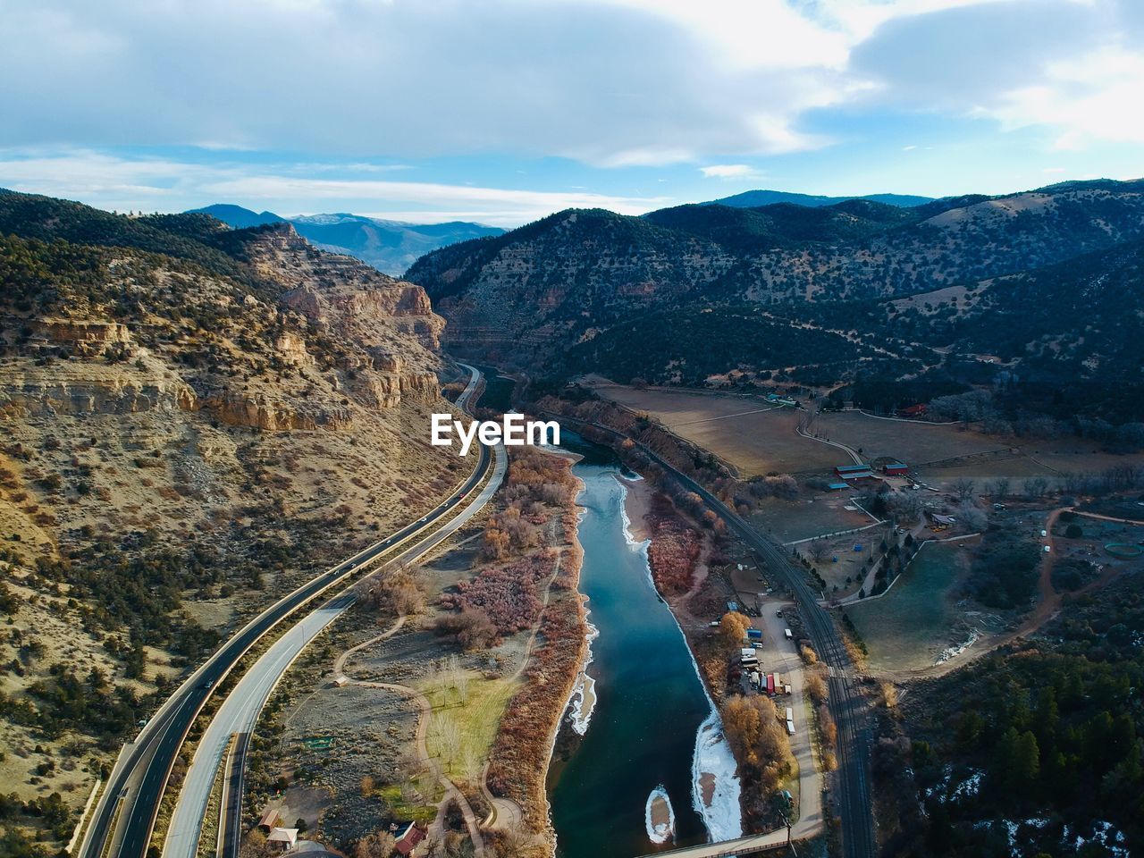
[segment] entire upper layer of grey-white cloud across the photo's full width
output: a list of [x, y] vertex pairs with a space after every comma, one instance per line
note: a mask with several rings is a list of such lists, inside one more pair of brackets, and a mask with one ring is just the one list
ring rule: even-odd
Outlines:
[[1141, 92], [1142, 7], [0, 0], [0, 146], [651, 168], [823, 149], [877, 111], [1138, 142], [1141, 120], [1105, 109]]

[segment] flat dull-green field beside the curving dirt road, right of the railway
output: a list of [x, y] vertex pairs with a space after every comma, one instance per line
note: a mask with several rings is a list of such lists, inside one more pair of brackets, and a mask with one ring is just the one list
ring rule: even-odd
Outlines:
[[964, 612], [952, 599], [969, 564], [970, 549], [961, 545], [927, 546], [885, 596], [847, 609], [869, 649], [872, 673], [930, 667], [943, 651], [980, 629], [986, 618]]

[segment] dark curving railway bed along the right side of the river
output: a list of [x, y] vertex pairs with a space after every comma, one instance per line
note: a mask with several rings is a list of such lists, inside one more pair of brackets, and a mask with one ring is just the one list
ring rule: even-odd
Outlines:
[[[557, 420], [573, 423], [587, 422], [551, 412], [547, 413]], [[623, 432], [601, 423], [588, 422], [588, 424], [621, 438], [628, 437]], [[787, 589], [794, 595], [800, 612], [807, 621], [807, 631], [810, 635], [811, 643], [815, 645], [819, 659], [831, 668], [828, 681], [829, 708], [831, 715], [834, 716], [834, 721], [839, 728], [837, 782], [840, 818], [842, 823], [842, 852], [847, 858], [874, 858], [877, 853], [877, 845], [874, 836], [873, 802], [869, 793], [871, 730], [861, 690], [858, 688], [857, 681], [851, 678], [853, 667], [850, 662], [850, 657], [847, 654], [845, 646], [843, 646], [842, 637], [834, 626], [834, 621], [823, 606], [818, 604], [818, 594], [810, 588], [804, 572], [791, 565], [789, 557], [780, 546], [757, 533], [732, 509], [728, 508], [723, 501], [691, 477], [678, 471], [654, 451], [643, 445], [639, 445], [639, 448], [665, 470], [669, 471], [688, 490], [702, 498], [705, 503], [723, 518], [726, 526], [758, 554], [770, 571], [781, 578]], [[758, 848], [771, 845], [771, 843], [765, 843], [770, 837], [773, 837], [773, 833], [761, 835], [756, 840], [756, 845]], [[745, 842], [739, 843], [736, 841], [736, 843], [739, 844], [741, 851], [746, 851], [746, 847], [749, 845]], [[684, 853], [683, 850], [675, 851], [681, 855]], [[707, 850], [691, 852], [691, 855], [696, 856], [725, 853], [728, 852]]]

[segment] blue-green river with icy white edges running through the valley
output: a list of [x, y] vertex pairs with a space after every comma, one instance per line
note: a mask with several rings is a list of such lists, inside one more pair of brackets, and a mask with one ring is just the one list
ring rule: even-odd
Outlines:
[[[596, 630], [588, 675], [595, 697], [582, 737], [565, 720], [549, 773], [549, 802], [561, 858], [637, 856], [657, 845], [649, 836], [649, 796], [666, 792], [675, 839], [659, 847], [702, 843], [738, 834], [738, 782], [726, 771], [725, 745], [715, 749], [720, 799], [696, 809], [697, 737], [710, 731], [712, 705], [667, 604], [651, 581], [646, 543], [626, 527], [621, 466], [611, 451], [565, 428], [563, 446], [585, 459], [573, 467], [583, 482], [579, 540], [580, 591]], [[635, 478], [635, 475], [628, 474]], [[579, 702], [577, 698], [573, 702]], [[581, 722], [582, 724], [582, 722]], [[712, 757], [705, 742], [704, 757]], [[723, 752], [722, 754], [720, 752]], [[705, 824], [706, 823], [706, 824]]]

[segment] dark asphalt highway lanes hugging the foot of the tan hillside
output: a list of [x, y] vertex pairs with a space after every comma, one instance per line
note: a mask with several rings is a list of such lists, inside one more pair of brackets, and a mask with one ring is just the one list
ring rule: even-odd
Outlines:
[[[471, 374], [469, 384], [456, 400], [458, 406], [464, 408], [479, 388], [480, 373], [471, 366], [462, 366]], [[283, 619], [448, 515], [485, 478], [491, 461], [488, 447], [482, 445], [472, 474], [439, 507], [299, 587], [215, 651], [164, 702], [135, 741], [120, 753], [85, 832], [80, 858], [145, 858], [170, 770], [194, 718], [217, 684]]]

